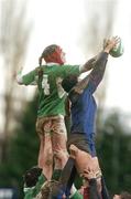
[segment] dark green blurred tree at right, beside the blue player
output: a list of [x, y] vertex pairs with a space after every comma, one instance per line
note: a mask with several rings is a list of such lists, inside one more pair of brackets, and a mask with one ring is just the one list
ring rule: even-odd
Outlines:
[[131, 134], [119, 113], [112, 113], [105, 119], [98, 133], [97, 150], [110, 193], [130, 191]]

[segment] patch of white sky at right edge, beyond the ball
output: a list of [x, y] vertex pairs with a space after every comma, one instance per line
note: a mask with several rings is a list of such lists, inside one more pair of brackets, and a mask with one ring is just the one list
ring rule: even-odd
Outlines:
[[107, 104], [131, 113], [131, 92], [129, 87], [131, 85], [131, 11], [129, 3], [125, 3], [124, 0], [119, 3], [113, 32], [122, 38], [124, 53], [119, 59], [112, 59], [112, 65], [109, 70]]

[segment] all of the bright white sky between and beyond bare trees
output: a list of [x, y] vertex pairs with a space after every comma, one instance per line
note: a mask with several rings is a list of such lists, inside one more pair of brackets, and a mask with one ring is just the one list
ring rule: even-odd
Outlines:
[[[30, 0], [29, 10], [34, 28], [24, 72], [37, 64], [37, 57], [43, 49], [51, 43], [58, 43], [63, 46], [68, 63], [83, 64], [86, 61], [83, 50], [78, 45], [86, 21], [84, 0], [40, 0], [39, 3], [36, 0]], [[118, 0], [118, 12], [116, 12], [112, 34], [122, 39], [124, 54], [119, 59], [109, 57], [106, 106], [131, 114], [131, 92], [129, 88], [131, 85], [131, 11], [128, 0]]]

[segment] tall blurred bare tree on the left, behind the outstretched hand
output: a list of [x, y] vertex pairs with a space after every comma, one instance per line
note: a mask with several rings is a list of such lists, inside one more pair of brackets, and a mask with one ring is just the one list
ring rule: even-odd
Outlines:
[[[25, 23], [25, 1], [1, 0], [0, 55], [4, 77], [4, 125], [2, 160], [6, 159], [8, 139], [14, 124], [14, 104], [20, 103], [14, 72], [23, 63], [31, 25]], [[20, 104], [18, 104], [20, 106]]]

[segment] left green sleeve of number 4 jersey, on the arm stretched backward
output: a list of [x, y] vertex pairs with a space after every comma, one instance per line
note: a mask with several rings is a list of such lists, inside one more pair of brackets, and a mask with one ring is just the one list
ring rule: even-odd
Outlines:
[[22, 76], [22, 84], [30, 85], [35, 82], [36, 70], [31, 71], [30, 73]]

